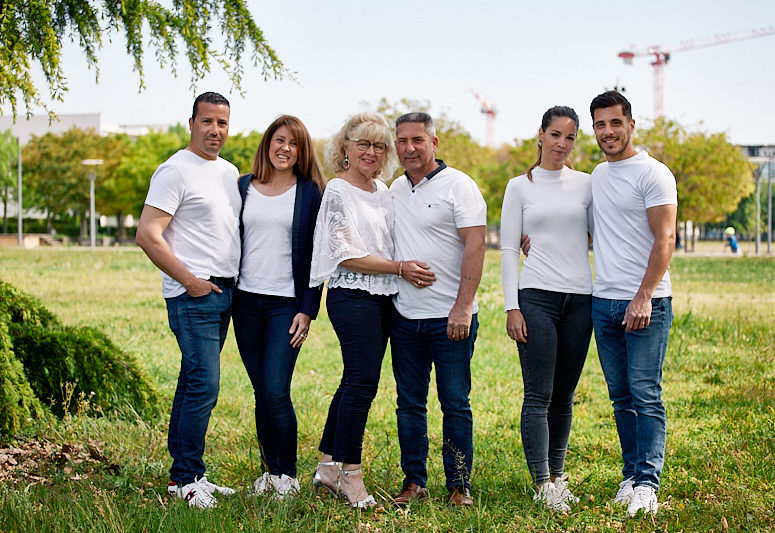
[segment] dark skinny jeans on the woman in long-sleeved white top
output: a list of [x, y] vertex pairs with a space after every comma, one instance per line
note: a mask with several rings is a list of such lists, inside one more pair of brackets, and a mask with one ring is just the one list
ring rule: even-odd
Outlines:
[[519, 291], [528, 339], [517, 343], [525, 387], [520, 428], [537, 485], [560, 476], [565, 468], [573, 395], [592, 336], [591, 303], [589, 294]]

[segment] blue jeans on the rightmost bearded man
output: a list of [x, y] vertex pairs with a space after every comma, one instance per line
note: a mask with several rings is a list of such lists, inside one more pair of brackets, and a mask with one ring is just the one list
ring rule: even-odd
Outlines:
[[662, 364], [673, 323], [672, 298], [651, 300], [651, 323], [624, 332], [629, 300], [592, 298], [595, 341], [614, 406], [622, 446], [624, 478], [659, 489], [665, 462], [666, 421], [662, 404]]

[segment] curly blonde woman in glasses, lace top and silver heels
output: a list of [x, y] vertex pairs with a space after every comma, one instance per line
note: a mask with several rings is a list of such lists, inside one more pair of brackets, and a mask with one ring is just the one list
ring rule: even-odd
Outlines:
[[[331, 139], [326, 163], [336, 174], [323, 195], [310, 286], [328, 282], [326, 308], [342, 349], [343, 374], [328, 410], [315, 470], [324, 488], [353, 507], [373, 507], [363, 482], [361, 449], [377, 394], [397, 277], [425, 286], [428, 265], [394, 261], [393, 203], [387, 186], [398, 165], [382, 115], [358, 113]], [[341, 467], [340, 467], [341, 463]]]

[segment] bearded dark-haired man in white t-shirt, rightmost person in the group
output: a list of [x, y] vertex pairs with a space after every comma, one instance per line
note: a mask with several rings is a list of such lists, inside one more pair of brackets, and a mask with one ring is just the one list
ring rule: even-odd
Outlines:
[[665, 458], [661, 382], [673, 321], [668, 266], [678, 199], [670, 169], [633, 147], [635, 121], [624, 96], [605, 92], [590, 112], [607, 160], [591, 177], [592, 321], [624, 461], [614, 502], [635, 516], [657, 512]]

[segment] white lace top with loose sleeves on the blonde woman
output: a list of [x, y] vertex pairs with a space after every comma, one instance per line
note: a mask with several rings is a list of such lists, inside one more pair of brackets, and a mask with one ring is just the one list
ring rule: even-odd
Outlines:
[[310, 287], [328, 281], [328, 287], [362, 289], [370, 294], [398, 292], [395, 274], [361, 274], [339, 264], [374, 255], [393, 259], [393, 200], [387, 186], [366, 192], [341, 178], [326, 185], [320, 204], [312, 248]]

